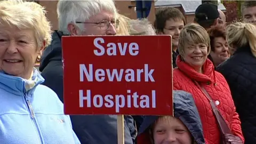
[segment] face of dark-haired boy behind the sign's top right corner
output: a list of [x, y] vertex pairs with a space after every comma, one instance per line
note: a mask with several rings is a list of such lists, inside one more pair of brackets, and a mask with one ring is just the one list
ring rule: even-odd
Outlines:
[[180, 31], [184, 28], [184, 22], [182, 20], [173, 20], [169, 19], [165, 22], [165, 27], [163, 32], [160, 32], [161, 35], [171, 35], [172, 36], [172, 45], [178, 47]]

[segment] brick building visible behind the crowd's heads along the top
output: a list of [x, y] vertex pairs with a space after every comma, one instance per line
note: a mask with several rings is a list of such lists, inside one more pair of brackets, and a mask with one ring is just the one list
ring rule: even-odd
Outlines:
[[[90, 0], [89, 0], [90, 1]], [[53, 30], [58, 29], [58, 19], [57, 19], [57, 3], [58, 1], [36, 1], [37, 3], [45, 6], [47, 17], [52, 22]], [[196, 8], [202, 3], [202, 1], [163, 1], [163, 0], [154, 0], [151, 1], [151, 9], [149, 13], [148, 20], [153, 23], [155, 19], [155, 11], [160, 7], [176, 7], [179, 9], [185, 16], [187, 22], [192, 22], [194, 20], [194, 14]], [[126, 17], [131, 19], [136, 19], [136, 7], [135, 1], [117, 1], [115, 0], [116, 7], [118, 12], [124, 14]], [[226, 8], [223, 4], [220, 4], [219, 9], [223, 12], [226, 12]]]

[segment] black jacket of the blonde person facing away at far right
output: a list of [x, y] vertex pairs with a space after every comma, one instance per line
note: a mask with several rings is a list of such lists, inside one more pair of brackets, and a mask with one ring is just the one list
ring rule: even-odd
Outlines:
[[222, 62], [219, 71], [228, 82], [242, 122], [245, 144], [256, 142], [256, 58], [250, 46], [240, 47], [232, 57]]

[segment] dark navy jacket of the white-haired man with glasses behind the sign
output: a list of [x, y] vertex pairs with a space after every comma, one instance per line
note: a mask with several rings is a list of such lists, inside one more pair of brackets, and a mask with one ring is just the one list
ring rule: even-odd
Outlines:
[[[55, 91], [63, 102], [62, 35], [60, 31], [54, 31], [52, 44], [45, 49], [39, 70], [45, 78], [43, 84]], [[73, 47], [74, 51], [76, 49], [79, 47]], [[70, 115], [70, 118], [73, 130], [81, 143], [117, 143], [116, 115]], [[136, 134], [134, 121], [131, 116], [125, 116], [124, 119], [125, 144], [132, 144]]]

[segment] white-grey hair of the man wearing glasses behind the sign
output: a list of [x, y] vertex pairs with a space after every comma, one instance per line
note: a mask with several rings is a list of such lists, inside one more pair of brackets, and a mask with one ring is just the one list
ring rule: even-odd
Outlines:
[[57, 4], [59, 30], [61, 30], [63, 34], [69, 35], [67, 26], [69, 23], [73, 23], [83, 31], [84, 25], [77, 24], [76, 21], [84, 22], [90, 17], [100, 13], [102, 10], [113, 12], [114, 17], [117, 17], [117, 9], [114, 0], [60, 0]]

